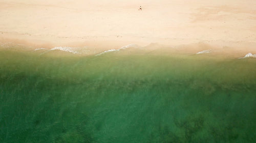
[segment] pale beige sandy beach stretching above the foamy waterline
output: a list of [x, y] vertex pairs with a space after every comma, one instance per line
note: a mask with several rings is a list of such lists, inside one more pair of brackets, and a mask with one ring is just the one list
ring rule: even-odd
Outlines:
[[203, 42], [253, 52], [256, 1], [0, 0], [0, 42], [98, 51]]

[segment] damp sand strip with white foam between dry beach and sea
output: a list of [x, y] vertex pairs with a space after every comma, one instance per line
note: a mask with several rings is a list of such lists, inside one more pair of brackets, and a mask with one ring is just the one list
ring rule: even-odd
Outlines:
[[[69, 39], [71, 40], [71, 39]], [[60, 42], [61, 43], [61, 42]], [[139, 44], [138, 44], [139, 43]], [[255, 58], [256, 43], [253, 42], [225, 42], [225, 41], [201, 41], [189, 44], [162, 44], [162, 43], [143, 43], [131, 41], [80, 41], [70, 43], [50, 43], [40, 40], [26, 41], [24, 39], [8, 39], [0, 37], [0, 49], [11, 49], [18, 51], [36, 51], [40, 50], [53, 51], [59, 50], [70, 52], [83, 56], [101, 55], [108, 52], [124, 51], [126, 48], [140, 48], [142, 53], [153, 54], [204, 54], [209, 56], [221, 56], [226, 58], [242, 59], [251, 53], [251, 57]], [[236, 45], [236, 46], [234, 46]], [[12, 48], [15, 47], [15, 48]], [[125, 47], [125, 48], [123, 48]], [[136, 52], [135, 52], [136, 53]], [[249, 56], [249, 55], [247, 55]]]

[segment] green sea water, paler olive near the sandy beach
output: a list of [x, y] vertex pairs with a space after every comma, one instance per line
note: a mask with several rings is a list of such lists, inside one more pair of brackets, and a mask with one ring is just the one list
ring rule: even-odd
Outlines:
[[256, 60], [0, 51], [0, 142], [256, 142]]

